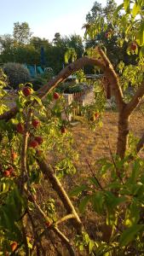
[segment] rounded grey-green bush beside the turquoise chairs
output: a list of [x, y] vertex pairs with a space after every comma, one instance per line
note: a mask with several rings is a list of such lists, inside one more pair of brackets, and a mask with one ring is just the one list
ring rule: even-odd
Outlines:
[[9, 85], [14, 89], [17, 89], [19, 84], [25, 84], [31, 80], [28, 69], [20, 63], [8, 62], [3, 66], [3, 71], [8, 76]]

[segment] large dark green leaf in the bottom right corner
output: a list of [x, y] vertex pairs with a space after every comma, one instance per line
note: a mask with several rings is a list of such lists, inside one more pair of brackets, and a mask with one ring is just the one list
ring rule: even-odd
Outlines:
[[120, 236], [119, 243], [122, 247], [128, 245], [130, 241], [135, 239], [137, 233], [144, 228], [144, 224], [135, 224], [132, 227], [124, 230], [123, 234]]

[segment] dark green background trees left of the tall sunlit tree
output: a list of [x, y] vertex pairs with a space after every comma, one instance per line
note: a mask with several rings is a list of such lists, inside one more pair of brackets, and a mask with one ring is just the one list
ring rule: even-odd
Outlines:
[[58, 73], [64, 67], [64, 55], [69, 47], [76, 50], [78, 57], [83, 55], [82, 38], [76, 34], [61, 38], [60, 33], [55, 33], [55, 38], [50, 43], [46, 38], [32, 37], [26, 22], [21, 24], [16, 22], [13, 36], [5, 34], [0, 37], [0, 62], [51, 67], [55, 73]]

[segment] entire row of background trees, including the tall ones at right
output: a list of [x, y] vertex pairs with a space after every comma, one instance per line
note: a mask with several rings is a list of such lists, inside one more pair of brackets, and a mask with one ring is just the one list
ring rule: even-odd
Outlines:
[[[0, 36], [0, 63], [10, 61], [51, 67], [56, 74], [64, 67], [64, 55], [67, 49], [74, 49], [79, 58], [89, 55], [88, 49], [101, 44], [104, 50], [107, 49], [107, 56], [114, 67], [119, 61], [124, 61], [126, 65], [135, 64], [136, 55], [125, 53], [129, 45], [125, 41], [123, 44], [124, 32], [119, 30], [116, 21], [115, 24], [112, 21], [112, 14], [116, 8], [117, 3], [114, 0], [107, 1], [105, 7], [95, 2], [86, 15], [86, 23], [83, 26], [84, 39], [77, 34], [62, 37], [59, 32], [56, 32], [55, 38], [49, 42], [47, 38], [32, 37], [31, 28], [27, 22], [15, 22], [12, 35]], [[119, 19], [121, 19], [120, 15], [118, 15]], [[94, 67], [86, 67], [85, 72], [94, 73]]]

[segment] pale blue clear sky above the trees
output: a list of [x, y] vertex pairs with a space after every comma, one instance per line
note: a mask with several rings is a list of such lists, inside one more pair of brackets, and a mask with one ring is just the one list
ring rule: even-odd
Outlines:
[[[103, 6], [106, 0], [97, 0]], [[121, 0], [116, 1], [118, 4]], [[73, 33], [83, 36], [85, 17], [95, 0], [0, 0], [0, 35], [12, 34], [14, 22], [27, 22], [32, 36], [47, 38]]]

